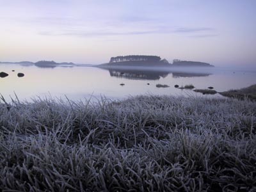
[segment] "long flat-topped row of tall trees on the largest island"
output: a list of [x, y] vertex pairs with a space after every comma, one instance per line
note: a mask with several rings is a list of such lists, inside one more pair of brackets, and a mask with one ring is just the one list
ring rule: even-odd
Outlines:
[[147, 55], [129, 55], [129, 56], [117, 56], [110, 58], [109, 63], [122, 62], [122, 61], [151, 61], [159, 62], [161, 58], [159, 56], [147, 56]]

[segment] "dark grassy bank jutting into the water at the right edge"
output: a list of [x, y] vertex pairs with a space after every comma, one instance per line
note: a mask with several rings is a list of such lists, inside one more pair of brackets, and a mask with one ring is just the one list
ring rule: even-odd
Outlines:
[[238, 99], [252, 99], [256, 100], [256, 84], [248, 86], [247, 88], [242, 88], [240, 90], [229, 90], [227, 92], [220, 92], [221, 95], [226, 97], [235, 97]]

